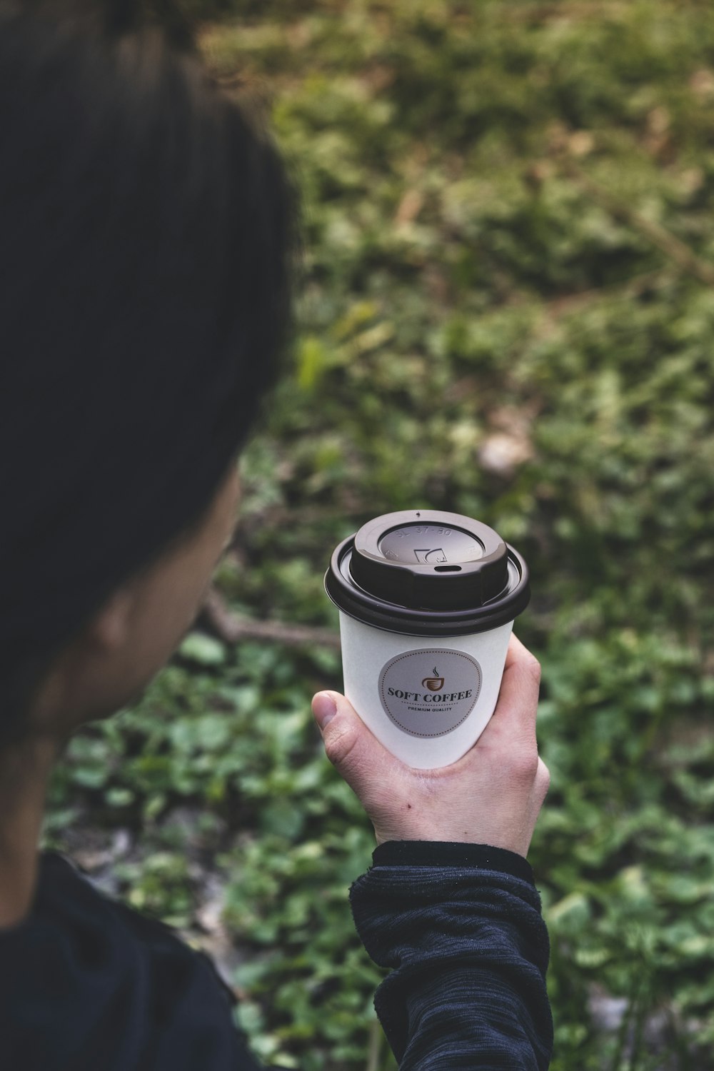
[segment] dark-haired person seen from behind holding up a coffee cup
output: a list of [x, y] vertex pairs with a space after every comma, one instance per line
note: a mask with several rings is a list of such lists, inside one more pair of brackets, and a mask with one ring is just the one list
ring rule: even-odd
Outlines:
[[[204, 956], [39, 851], [69, 737], [140, 694], [201, 605], [289, 337], [291, 184], [164, 6], [0, 0], [4, 1071], [258, 1067]], [[513, 639], [480, 742], [426, 772], [314, 699], [375, 826], [351, 903], [393, 968], [376, 1005], [404, 1069], [548, 1066], [537, 678]]]

